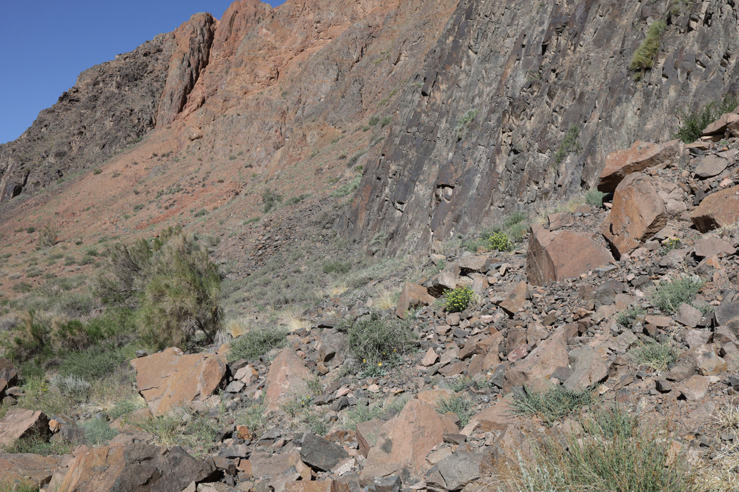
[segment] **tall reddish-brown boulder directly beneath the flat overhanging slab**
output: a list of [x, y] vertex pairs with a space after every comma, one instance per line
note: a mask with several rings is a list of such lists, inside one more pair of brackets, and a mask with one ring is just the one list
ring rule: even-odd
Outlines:
[[667, 225], [667, 220], [684, 211], [684, 192], [664, 179], [631, 174], [613, 193], [613, 207], [603, 221], [602, 233], [621, 254], [641, 246]]

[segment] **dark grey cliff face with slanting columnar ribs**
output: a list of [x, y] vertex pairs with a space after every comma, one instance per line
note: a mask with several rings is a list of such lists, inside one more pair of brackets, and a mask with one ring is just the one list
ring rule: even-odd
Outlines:
[[[659, 19], [661, 49], [636, 81], [630, 60]], [[670, 139], [678, 109], [735, 91], [738, 60], [734, 1], [460, 1], [345, 229], [413, 249], [588, 187], [607, 153]], [[571, 125], [582, 150], [557, 164]]]

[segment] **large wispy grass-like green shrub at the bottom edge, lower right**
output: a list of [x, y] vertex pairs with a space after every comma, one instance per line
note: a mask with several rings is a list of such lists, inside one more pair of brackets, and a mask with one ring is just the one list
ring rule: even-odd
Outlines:
[[636, 429], [619, 410], [613, 417], [579, 419], [582, 432], [543, 435], [534, 459], [518, 460], [505, 491], [697, 492], [687, 467], [667, 465], [671, 440], [655, 429]]

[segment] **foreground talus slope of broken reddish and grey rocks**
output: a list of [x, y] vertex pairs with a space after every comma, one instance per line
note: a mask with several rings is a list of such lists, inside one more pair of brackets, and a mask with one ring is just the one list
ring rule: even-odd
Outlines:
[[[137, 353], [130, 384], [144, 404], [109, 421], [93, 410], [120, 431], [98, 446], [78, 425], [84, 406], [11, 409], [0, 443], [77, 447], [1, 454], [0, 477], [68, 492], [524, 490], [522, 460], [548, 452], [532, 446], [587, 441], [594, 412], [616, 408], [635, 419], [627, 440], [651, 436], [654, 459], [687, 490], [736, 490], [738, 121], [709, 127], [718, 145], [611, 154], [599, 184], [617, 181], [612, 201], [543, 216], [513, 251], [429, 255], [437, 273], [405, 283], [374, 317], [352, 293], [304, 311], [307, 325], [261, 355], [240, 358], [250, 345], [239, 339], [209, 353]], [[458, 288], [474, 292], [469, 305], [437, 302]], [[360, 362], [357, 323], [385, 330], [398, 317], [408, 325], [381, 340], [387, 352]], [[403, 339], [408, 328], [415, 337]], [[0, 359], [6, 406], [31, 401], [16, 380]], [[589, 396], [561, 415], [520, 406], [551, 391]]]

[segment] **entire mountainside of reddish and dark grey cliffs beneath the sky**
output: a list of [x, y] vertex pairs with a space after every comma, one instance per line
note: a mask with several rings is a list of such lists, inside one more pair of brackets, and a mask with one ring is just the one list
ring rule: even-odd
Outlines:
[[[678, 108], [736, 89], [732, 4], [664, 9], [636, 0], [235, 1], [219, 21], [194, 15], [84, 72], [1, 145], [0, 218], [36, 211], [126, 233], [187, 222], [191, 207], [236, 195], [248, 216], [264, 190], [327, 196], [361, 164], [344, 234], [386, 238], [390, 251], [445, 240], [593, 184], [610, 151], [667, 139]], [[658, 19], [667, 30], [655, 66], [636, 81], [630, 59]], [[577, 151], [558, 158], [570, 128]], [[120, 179], [83, 173], [50, 187], [92, 167]], [[34, 194], [50, 189], [61, 193], [54, 209]], [[123, 222], [117, 216], [142, 203], [132, 189], [155, 198]], [[90, 207], [105, 207], [106, 220], [85, 219]]]

